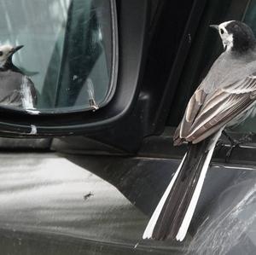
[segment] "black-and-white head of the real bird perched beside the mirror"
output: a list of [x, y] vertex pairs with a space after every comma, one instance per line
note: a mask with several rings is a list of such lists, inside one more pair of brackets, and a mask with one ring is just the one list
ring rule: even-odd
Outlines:
[[230, 20], [211, 27], [218, 30], [225, 50], [242, 53], [255, 48], [256, 39], [252, 29], [241, 21]]

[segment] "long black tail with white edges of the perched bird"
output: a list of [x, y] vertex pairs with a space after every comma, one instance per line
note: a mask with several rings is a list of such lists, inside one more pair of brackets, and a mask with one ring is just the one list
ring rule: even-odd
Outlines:
[[183, 241], [220, 134], [221, 130], [202, 142], [189, 143], [189, 150], [150, 218], [143, 239]]

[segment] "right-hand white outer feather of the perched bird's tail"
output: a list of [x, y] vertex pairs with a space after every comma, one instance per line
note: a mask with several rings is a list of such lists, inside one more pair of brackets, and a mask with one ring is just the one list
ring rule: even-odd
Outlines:
[[202, 167], [201, 175], [200, 175], [200, 177], [198, 179], [198, 182], [196, 184], [194, 194], [192, 196], [192, 199], [190, 200], [188, 210], [187, 210], [187, 212], [186, 212], [186, 214], [183, 218], [183, 222], [182, 222], [180, 228], [178, 229], [178, 232], [177, 232], [177, 235], [176, 235], [176, 240], [177, 241], [183, 241], [183, 239], [185, 238], [185, 236], [188, 232], [189, 224], [190, 224], [191, 219], [193, 217], [193, 214], [195, 212], [195, 206], [197, 204], [197, 201], [199, 200], [199, 196], [201, 194], [201, 188], [203, 186], [205, 177], [207, 175], [208, 166], [209, 166], [210, 161], [212, 159], [212, 154], [213, 154], [213, 151], [214, 151], [214, 148], [215, 148], [215, 144], [218, 141], [218, 138], [221, 135], [221, 132], [222, 132], [222, 130], [219, 130], [218, 133], [212, 138], [212, 144], [209, 148], [209, 151], [208, 151], [208, 154], [207, 154], [207, 159], [205, 160], [204, 165]]

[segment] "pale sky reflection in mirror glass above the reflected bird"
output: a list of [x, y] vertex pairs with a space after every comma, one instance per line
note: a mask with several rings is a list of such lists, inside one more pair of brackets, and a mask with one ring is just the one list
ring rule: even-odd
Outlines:
[[[14, 62], [26, 62], [40, 91], [55, 42], [63, 43], [70, 0], [0, 0], [0, 43], [24, 44]], [[21, 60], [22, 55], [22, 60]]]

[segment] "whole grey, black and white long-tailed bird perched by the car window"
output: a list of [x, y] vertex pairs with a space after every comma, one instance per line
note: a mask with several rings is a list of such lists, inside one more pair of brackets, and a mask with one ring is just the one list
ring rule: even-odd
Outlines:
[[212, 25], [224, 50], [191, 96], [173, 135], [187, 143], [171, 182], [150, 218], [143, 239], [183, 241], [195, 212], [218, 138], [225, 128], [253, 117], [256, 102], [256, 39], [239, 20]]

